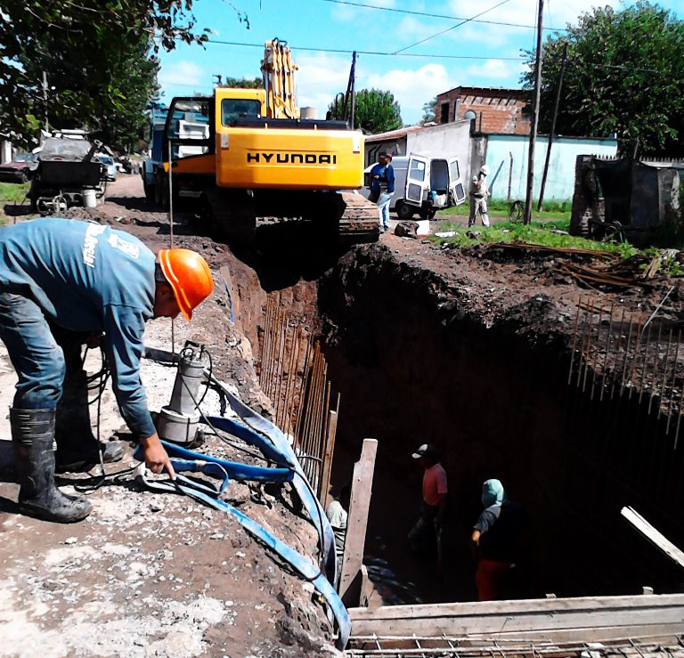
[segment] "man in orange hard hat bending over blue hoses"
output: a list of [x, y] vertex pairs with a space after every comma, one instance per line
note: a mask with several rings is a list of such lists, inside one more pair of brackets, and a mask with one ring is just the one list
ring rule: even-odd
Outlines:
[[19, 378], [10, 424], [20, 512], [61, 523], [90, 514], [89, 502], [56, 488], [53, 440], [61, 470], [99, 461], [100, 450], [108, 461], [121, 457], [98, 445], [87, 406], [74, 410], [87, 402], [85, 342], [102, 340], [119, 410], [145, 463], [174, 478], [140, 380], [142, 334], [152, 318], [191, 319], [214, 289], [206, 261], [189, 249], [161, 249], [155, 258], [128, 233], [57, 218], [0, 229], [0, 256], [0, 338]]

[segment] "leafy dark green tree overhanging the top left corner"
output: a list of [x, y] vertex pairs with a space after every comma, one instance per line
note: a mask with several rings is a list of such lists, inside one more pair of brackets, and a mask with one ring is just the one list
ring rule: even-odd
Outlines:
[[[17, 143], [51, 126], [134, 140], [157, 89], [160, 48], [203, 44], [192, 0], [24, 0], [0, 11], [0, 132]], [[240, 20], [247, 17], [239, 12]], [[47, 78], [44, 88], [43, 73]]]

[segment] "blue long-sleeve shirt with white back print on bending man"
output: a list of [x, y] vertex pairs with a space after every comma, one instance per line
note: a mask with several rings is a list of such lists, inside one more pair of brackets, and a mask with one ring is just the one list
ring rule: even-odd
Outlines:
[[0, 285], [27, 290], [64, 329], [105, 332], [114, 394], [139, 437], [155, 432], [140, 381], [154, 264], [140, 240], [96, 223], [46, 218], [0, 230]]

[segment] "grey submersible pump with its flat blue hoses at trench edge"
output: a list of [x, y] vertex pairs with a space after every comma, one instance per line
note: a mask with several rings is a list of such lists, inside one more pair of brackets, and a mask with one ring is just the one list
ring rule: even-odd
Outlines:
[[[178, 372], [171, 402], [162, 408], [157, 420], [159, 436], [174, 442], [163, 441], [162, 443], [175, 468], [176, 479], [171, 481], [148, 478], [144, 475], [144, 465], [142, 465], [140, 474], [142, 483], [152, 491], [183, 494], [231, 515], [265, 547], [278, 554], [296, 573], [306, 581], [310, 581], [328, 603], [330, 613], [338, 626], [337, 646], [342, 649], [349, 638], [351, 622], [346, 607], [334, 587], [338, 557], [335, 553], [335, 537], [328, 517], [306, 479], [287, 437], [277, 426], [241, 402], [223, 382], [214, 377], [211, 359], [208, 360], [208, 367], [203, 361], [205, 354], [203, 345], [191, 342], [186, 343], [180, 354], [148, 347], [144, 349], [143, 356], [146, 358], [168, 364], [177, 363]], [[240, 421], [224, 416], [205, 415], [197, 402], [198, 399], [201, 402], [198, 394], [202, 383], [206, 386], [217, 387], [224, 401], [237, 414]], [[225, 440], [224, 434], [230, 435], [246, 443], [250, 448], [256, 448], [269, 466], [249, 466], [189, 450], [188, 447], [197, 443], [200, 425], [210, 427], [222, 440]], [[231, 443], [231, 441], [226, 443]], [[136, 458], [142, 459], [140, 451], [136, 453]], [[210, 484], [198, 483], [182, 475], [183, 472], [188, 471], [218, 478], [220, 484], [215, 488]], [[294, 548], [290, 548], [285, 542], [274, 537], [271, 532], [224, 500], [223, 494], [227, 491], [231, 479], [240, 482], [291, 483], [318, 533], [319, 563], [314, 564], [309, 557], [300, 555]], [[332, 621], [331, 617], [330, 621]]]

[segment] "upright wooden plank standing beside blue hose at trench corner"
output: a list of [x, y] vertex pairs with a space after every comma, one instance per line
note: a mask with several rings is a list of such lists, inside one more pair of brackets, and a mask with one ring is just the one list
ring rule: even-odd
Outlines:
[[352, 591], [352, 582], [361, 579], [363, 548], [366, 543], [368, 526], [368, 510], [371, 507], [373, 472], [375, 456], [378, 452], [376, 439], [363, 439], [361, 458], [354, 464], [352, 480], [352, 497], [349, 503], [349, 514], [346, 519], [345, 555], [342, 560], [342, 575], [339, 579], [339, 596], [349, 605], [354, 600], [358, 605], [359, 592]]

